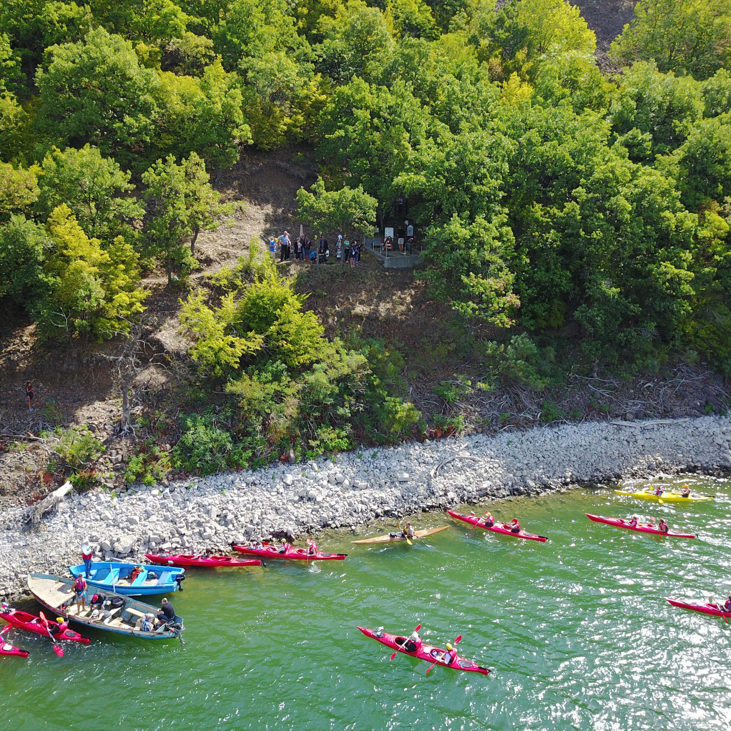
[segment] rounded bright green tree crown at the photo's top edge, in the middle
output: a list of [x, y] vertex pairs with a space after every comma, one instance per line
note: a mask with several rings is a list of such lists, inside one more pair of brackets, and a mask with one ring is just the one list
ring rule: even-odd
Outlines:
[[394, 49], [382, 12], [368, 7], [363, 0], [338, 5], [334, 18], [322, 15], [317, 37], [322, 38], [314, 47], [317, 70], [337, 84], [347, 83], [354, 76], [367, 81], [378, 79]]

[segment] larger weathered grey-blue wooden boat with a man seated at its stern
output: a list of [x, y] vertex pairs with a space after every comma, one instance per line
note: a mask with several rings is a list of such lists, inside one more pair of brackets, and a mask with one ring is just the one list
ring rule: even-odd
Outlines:
[[86, 609], [77, 614], [76, 596], [72, 590], [72, 580], [52, 574], [29, 574], [28, 588], [39, 604], [49, 609], [54, 617], [65, 617], [69, 621], [83, 624], [91, 629], [102, 629], [104, 632], [115, 632], [117, 635], [140, 637], [143, 640], [170, 640], [178, 637], [183, 644], [183, 619], [175, 616], [173, 622], [159, 624], [152, 632], [140, 629], [142, 618], [147, 613], [157, 615], [156, 607], [139, 602], [129, 596], [105, 593], [107, 599], [118, 596], [122, 600], [121, 607], [112, 611], [112, 616], [102, 620], [94, 615], [94, 609], [86, 592]]

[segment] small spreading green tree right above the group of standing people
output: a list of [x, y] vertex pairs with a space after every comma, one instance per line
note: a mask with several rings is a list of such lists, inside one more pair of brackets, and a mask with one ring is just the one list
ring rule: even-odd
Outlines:
[[317, 178], [311, 192], [298, 190], [297, 208], [302, 219], [319, 230], [366, 231], [376, 220], [376, 199], [361, 186], [327, 191], [322, 178]]

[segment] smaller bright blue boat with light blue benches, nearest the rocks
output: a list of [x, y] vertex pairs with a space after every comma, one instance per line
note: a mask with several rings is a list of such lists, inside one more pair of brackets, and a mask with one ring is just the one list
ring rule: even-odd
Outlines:
[[[132, 578], [132, 569], [141, 569], [135, 578]], [[86, 576], [86, 567], [69, 567], [73, 577], [82, 575], [88, 586], [102, 591], [113, 591], [123, 596], [151, 596], [152, 594], [170, 594], [178, 591], [181, 581], [185, 578], [185, 569], [172, 566], [144, 566], [143, 564], [128, 564], [125, 561], [94, 561], [91, 571]]]

